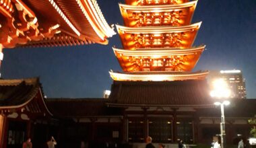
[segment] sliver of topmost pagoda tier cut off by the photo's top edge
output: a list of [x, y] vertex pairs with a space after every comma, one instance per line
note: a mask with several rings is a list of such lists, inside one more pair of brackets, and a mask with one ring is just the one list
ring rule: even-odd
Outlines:
[[127, 5], [165, 5], [186, 3], [189, 0], [125, 0]]

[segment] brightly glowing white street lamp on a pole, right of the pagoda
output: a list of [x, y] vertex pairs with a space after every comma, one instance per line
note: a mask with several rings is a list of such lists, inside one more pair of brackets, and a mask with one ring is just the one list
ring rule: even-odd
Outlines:
[[224, 105], [228, 106], [230, 104], [229, 101], [224, 100], [230, 97], [230, 89], [228, 89], [228, 85], [223, 79], [217, 79], [213, 82], [213, 90], [210, 92], [210, 96], [212, 98], [218, 98], [222, 100], [222, 102], [214, 102], [214, 105], [220, 106], [221, 110], [221, 122], [220, 122], [220, 139], [221, 139], [221, 147], [224, 148], [225, 140], [225, 116], [224, 116]]

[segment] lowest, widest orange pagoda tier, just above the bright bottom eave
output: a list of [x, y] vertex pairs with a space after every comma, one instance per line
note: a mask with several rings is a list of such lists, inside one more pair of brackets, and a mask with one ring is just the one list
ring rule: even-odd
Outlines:
[[191, 71], [205, 46], [196, 48], [113, 48], [123, 71]]

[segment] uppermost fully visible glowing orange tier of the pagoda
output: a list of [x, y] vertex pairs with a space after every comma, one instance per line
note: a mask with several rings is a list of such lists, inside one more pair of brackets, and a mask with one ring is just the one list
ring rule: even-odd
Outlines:
[[196, 1], [176, 5], [125, 5], [119, 3], [125, 26], [185, 26], [191, 19]]

